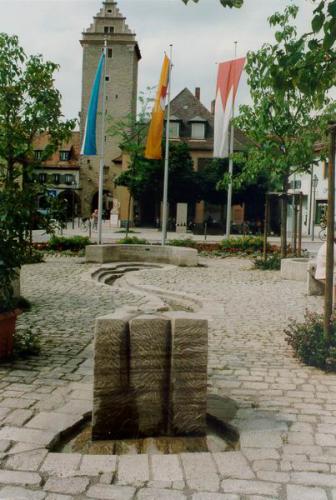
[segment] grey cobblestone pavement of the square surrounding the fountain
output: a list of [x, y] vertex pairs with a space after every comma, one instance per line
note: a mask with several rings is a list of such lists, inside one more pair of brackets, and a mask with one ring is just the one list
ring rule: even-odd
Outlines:
[[209, 390], [239, 410], [240, 450], [89, 456], [48, 452], [91, 411], [94, 317], [150, 307], [145, 292], [87, 279], [76, 259], [23, 269], [34, 307], [19, 320], [43, 335], [38, 358], [0, 365], [0, 499], [336, 500], [336, 375], [293, 359], [283, 329], [305, 308], [305, 284], [247, 260], [139, 271], [130, 284], [191, 295], [210, 321]]

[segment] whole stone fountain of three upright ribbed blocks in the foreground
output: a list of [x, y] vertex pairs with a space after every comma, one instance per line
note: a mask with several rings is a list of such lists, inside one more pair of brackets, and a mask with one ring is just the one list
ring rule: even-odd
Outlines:
[[93, 440], [204, 436], [208, 323], [121, 311], [96, 321]]

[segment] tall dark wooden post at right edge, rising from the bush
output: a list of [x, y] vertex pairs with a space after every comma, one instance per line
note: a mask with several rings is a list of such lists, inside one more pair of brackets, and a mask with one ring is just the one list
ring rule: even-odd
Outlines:
[[327, 262], [326, 285], [324, 296], [324, 336], [326, 341], [331, 337], [331, 315], [333, 311], [333, 280], [334, 280], [334, 220], [335, 220], [335, 143], [336, 124], [329, 127], [329, 171], [328, 171], [328, 214], [327, 214]]

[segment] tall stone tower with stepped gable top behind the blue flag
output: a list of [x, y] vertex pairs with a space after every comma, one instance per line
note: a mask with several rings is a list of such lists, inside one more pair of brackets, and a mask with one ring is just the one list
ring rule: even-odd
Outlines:
[[[120, 120], [136, 113], [138, 62], [141, 58], [135, 34], [126, 24], [117, 2], [105, 1], [91, 26], [82, 33], [83, 47], [82, 104], [80, 114], [80, 135], [83, 139], [86, 114], [91, 88], [98, 62], [107, 41], [106, 57], [106, 120], [105, 120], [105, 167], [104, 208], [111, 208], [112, 197], [125, 196], [123, 190], [114, 187], [114, 179], [121, 172], [121, 151], [118, 138], [111, 137], [107, 129], [111, 121]], [[100, 154], [102, 139], [102, 91], [100, 92], [97, 115], [97, 153]], [[89, 215], [98, 204], [99, 156], [85, 156], [81, 160], [82, 214]], [[119, 200], [122, 201], [122, 200]]]

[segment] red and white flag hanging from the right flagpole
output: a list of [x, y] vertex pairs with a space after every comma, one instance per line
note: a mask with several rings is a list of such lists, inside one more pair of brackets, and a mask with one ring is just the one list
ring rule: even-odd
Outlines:
[[229, 156], [230, 120], [244, 64], [245, 57], [242, 57], [218, 65], [214, 158], [227, 158]]

